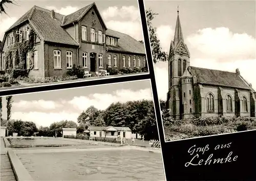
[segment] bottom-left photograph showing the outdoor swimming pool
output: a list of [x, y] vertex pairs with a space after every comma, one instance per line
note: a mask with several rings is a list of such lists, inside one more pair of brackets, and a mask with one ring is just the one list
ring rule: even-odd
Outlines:
[[150, 80], [0, 101], [0, 180], [165, 180]]

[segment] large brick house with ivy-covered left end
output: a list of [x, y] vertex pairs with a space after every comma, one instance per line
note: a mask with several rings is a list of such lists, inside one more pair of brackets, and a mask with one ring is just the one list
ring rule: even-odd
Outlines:
[[[29, 42], [31, 32], [32, 51], [8, 53]], [[0, 53], [1, 70], [30, 69], [35, 77], [61, 76], [74, 64], [91, 73], [147, 66], [144, 45], [108, 29], [95, 3], [66, 16], [34, 6], [6, 31]]]

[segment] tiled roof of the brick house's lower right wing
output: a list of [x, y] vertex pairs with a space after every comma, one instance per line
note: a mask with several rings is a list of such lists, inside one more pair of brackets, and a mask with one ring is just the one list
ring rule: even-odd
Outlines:
[[106, 30], [106, 35], [119, 37], [117, 47], [107, 46], [109, 50], [145, 54], [145, 46], [133, 37], [114, 30]]

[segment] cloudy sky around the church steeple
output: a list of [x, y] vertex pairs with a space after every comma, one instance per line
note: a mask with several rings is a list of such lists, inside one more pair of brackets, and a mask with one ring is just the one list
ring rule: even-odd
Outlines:
[[[153, 20], [164, 51], [174, 38], [177, 6], [190, 65], [235, 72], [256, 89], [255, 1], [144, 1], [159, 15]], [[166, 100], [167, 62], [155, 65], [158, 96]]]

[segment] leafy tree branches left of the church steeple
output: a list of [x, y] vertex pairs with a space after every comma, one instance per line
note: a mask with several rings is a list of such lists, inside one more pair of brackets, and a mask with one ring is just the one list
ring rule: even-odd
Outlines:
[[147, 27], [148, 32], [150, 33], [150, 41], [151, 41], [151, 51], [153, 56], [154, 63], [158, 61], [166, 61], [168, 59], [168, 53], [163, 52], [160, 41], [156, 35], [156, 27], [153, 27], [152, 20], [158, 15], [158, 13], [154, 13], [152, 9], [146, 10], [147, 17]]

